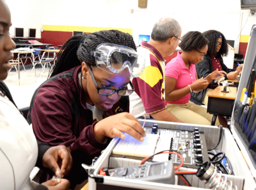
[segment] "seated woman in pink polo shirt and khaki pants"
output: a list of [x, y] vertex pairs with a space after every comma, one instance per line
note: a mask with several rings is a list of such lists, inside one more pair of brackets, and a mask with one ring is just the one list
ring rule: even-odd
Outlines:
[[[199, 92], [225, 71], [216, 69], [206, 78], [197, 78], [195, 64], [204, 59], [207, 53], [208, 40], [201, 32], [188, 32], [182, 37], [176, 58], [167, 63], [165, 68], [165, 105], [175, 117], [188, 124], [211, 125], [212, 116], [206, 108], [189, 101], [191, 92]], [[224, 118], [219, 117], [215, 125], [226, 126]]]

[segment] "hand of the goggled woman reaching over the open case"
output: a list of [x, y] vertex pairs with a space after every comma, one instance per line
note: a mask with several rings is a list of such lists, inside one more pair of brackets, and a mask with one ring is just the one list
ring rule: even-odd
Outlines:
[[102, 119], [94, 126], [93, 130], [96, 139], [100, 142], [106, 137], [124, 139], [125, 135], [122, 132], [126, 132], [139, 141], [143, 141], [143, 137], [146, 136], [140, 122], [127, 112], [118, 113], [117, 115]]

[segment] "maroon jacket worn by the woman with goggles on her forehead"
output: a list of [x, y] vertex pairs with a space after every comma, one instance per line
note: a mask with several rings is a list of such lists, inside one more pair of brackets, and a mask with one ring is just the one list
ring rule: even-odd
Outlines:
[[[81, 90], [78, 73], [81, 65], [55, 75], [36, 89], [27, 117], [33, 124], [37, 139], [51, 146], [65, 145], [71, 149], [73, 166], [67, 178], [71, 185], [87, 179], [81, 164], [91, 165], [108, 146], [96, 140], [93, 134], [92, 111], [82, 103], [86, 94]], [[106, 112], [107, 116], [129, 112], [129, 97], [121, 99]]]

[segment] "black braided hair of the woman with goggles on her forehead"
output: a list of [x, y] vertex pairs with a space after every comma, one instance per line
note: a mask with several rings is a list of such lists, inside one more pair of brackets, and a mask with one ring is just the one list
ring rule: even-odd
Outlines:
[[62, 46], [60, 53], [58, 54], [58, 61], [54, 65], [53, 70], [49, 73], [49, 76], [53, 77], [56, 74], [68, 71], [81, 65], [82, 62], [86, 62], [89, 67], [96, 66], [95, 58], [90, 55], [87, 48], [95, 51], [97, 46], [101, 43], [125, 45], [136, 51], [136, 45], [132, 36], [118, 30], [75, 35], [70, 37], [70, 39], [68, 39]]

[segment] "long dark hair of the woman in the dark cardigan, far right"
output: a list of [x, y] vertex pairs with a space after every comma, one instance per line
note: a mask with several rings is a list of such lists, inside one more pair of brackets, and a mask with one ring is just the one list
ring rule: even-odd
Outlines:
[[[217, 58], [221, 58], [221, 56], [227, 55], [227, 52], [229, 51], [229, 49], [227, 47], [226, 38], [221, 32], [215, 31], [215, 30], [208, 30], [203, 32], [203, 35], [209, 40], [207, 53], [211, 53]], [[222, 45], [221, 45], [220, 51], [216, 52], [216, 49], [217, 49], [216, 44], [220, 35], [222, 36]]]

